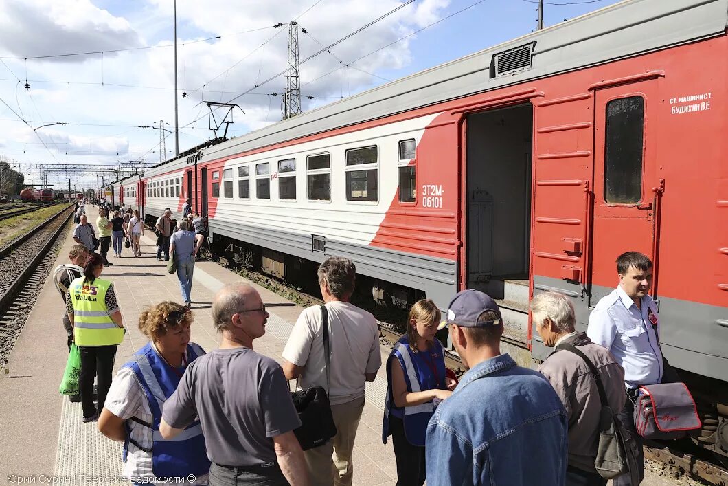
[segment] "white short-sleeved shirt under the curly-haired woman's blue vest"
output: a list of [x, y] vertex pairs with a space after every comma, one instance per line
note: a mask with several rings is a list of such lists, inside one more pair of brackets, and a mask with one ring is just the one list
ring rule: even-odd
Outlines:
[[[136, 375], [129, 368], [119, 369], [116, 377], [111, 381], [111, 388], [104, 402], [104, 408], [116, 415], [116, 417], [128, 420], [136, 417], [146, 423], [151, 423], [154, 417], [151, 415], [149, 403], [144, 396], [141, 385]], [[142, 426], [132, 420], [128, 421], [131, 430], [131, 438], [141, 447], [151, 449], [152, 437], [151, 428]], [[121, 458], [119, 458], [121, 459]], [[122, 468], [122, 476], [132, 482], [148, 482], [154, 485], [169, 484], [168, 482], [154, 481], [154, 473], [151, 471], [151, 455], [148, 452], [138, 449], [134, 444], [129, 444], [127, 462]], [[195, 482], [175, 482], [175, 485], [192, 486], [207, 485], [209, 474], [198, 477]], [[144, 480], [138, 480], [144, 478]]]

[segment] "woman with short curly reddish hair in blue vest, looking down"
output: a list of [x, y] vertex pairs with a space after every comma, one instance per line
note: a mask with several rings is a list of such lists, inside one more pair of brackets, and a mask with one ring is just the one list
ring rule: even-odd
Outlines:
[[175, 302], [162, 302], [143, 312], [139, 329], [150, 342], [119, 369], [108, 391], [98, 430], [124, 442], [123, 474], [134, 484], [175, 478], [170, 483], [207, 485], [210, 461], [199, 422], [174, 440], [159, 434], [165, 401], [177, 389], [187, 366], [205, 354], [190, 342], [193, 320], [189, 307]]

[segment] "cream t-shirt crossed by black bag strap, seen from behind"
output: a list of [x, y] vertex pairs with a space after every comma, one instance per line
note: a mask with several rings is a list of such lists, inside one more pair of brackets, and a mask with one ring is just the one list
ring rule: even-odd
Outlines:
[[379, 328], [371, 313], [349, 302], [329, 302], [326, 309], [331, 388], [326, 385], [322, 315], [318, 305], [298, 316], [282, 356], [304, 367], [298, 382], [302, 389], [323, 386], [331, 404], [343, 404], [364, 396], [365, 373], [375, 373], [381, 367]]

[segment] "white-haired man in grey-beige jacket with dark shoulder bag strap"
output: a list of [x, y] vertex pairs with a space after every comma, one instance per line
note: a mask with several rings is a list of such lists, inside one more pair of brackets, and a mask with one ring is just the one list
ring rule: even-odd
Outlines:
[[545, 345], [556, 348], [541, 366], [569, 417], [569, 465], [566, 485], [606, 485], [594, 467], [600, 432], [601, 401], [596, 380], [581, 351], [597, 370], [614, 415], [625, 404], [625, 370], [614, 356], [574, 329], [576, 318], [571, 299], [558, 292], [544, 292], [531, 300], [531, 318]]

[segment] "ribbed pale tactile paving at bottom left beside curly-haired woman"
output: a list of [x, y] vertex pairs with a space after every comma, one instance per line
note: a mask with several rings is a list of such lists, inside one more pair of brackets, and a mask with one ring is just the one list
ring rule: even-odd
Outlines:
[[122, 478], [122, 443], [101, 435], [96, 422], [82, 422], [80, 403], [63, 399], [54, 481], [63, 485], [130, 485]]

